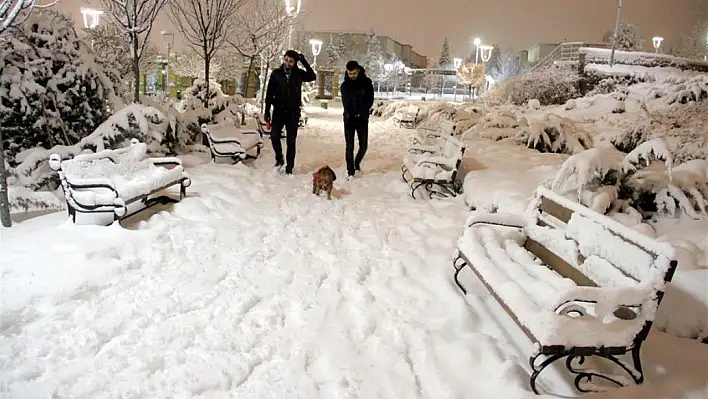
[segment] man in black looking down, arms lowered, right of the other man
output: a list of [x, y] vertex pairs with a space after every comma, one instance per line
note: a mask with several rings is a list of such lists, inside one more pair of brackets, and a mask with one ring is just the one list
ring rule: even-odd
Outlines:
[[[347, 74], [340, 87], [344, 106], [344, 141], [348, 178], [361, 170], [369, 142], [369, 110], [374, 105], [374, 85], [366, 70], [356, 61], [347, 62]], [[359, 151], [354, 157], [354, 133], [359, 139]]]

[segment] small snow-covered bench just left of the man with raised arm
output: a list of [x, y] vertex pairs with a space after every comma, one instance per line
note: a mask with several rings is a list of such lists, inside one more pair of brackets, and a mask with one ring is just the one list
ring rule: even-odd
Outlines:
[[[206, 136], [211, 151], [211, 159], [230, 159], [232, 163], [244, 159], [255, 159], [261, 155], [263, 136], [258, 130], [242, 130], [231, 123], [202, 124], [202, 134]], [[249, 151], [256, 149], [256, 155]]]

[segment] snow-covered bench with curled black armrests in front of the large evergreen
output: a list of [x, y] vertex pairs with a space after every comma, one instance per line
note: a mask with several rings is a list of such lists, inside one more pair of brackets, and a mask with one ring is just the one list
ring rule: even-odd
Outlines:
[[[178, 158], [150, 158], [147, 145], [137, 139], [126, 148], [72, 159], [52, 154], [49, 166], [59, 174], [74, 223], [77, 213], [111, 213], [113, 223], [155, 204], [178, 202], [191, 185]], [[180, 186], [179, 200], [167, 195], [151, 197], [175, 185]]]

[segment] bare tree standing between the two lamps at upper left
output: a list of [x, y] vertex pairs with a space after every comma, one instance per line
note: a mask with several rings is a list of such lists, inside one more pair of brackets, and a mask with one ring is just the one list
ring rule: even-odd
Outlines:
[[169, 0], [101, 0], [111, 21], [122, 28], [130, 43], [133, 69], [133, 101], [140, 102], [140, 60], [150, 42], [158, 13]]

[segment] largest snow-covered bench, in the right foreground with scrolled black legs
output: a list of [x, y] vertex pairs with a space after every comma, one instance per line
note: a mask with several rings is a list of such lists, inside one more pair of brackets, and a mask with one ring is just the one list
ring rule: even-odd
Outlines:
[[[643, 382], [640, 348], [677, 266], [671, 245], [539, 187], [525, 215], [474, 212], [457, 252], [460, 289], [469, 266], [535, 343], [536, 394], [539, 374], [563, 358], [581, 392]], [[630, 378], [581, 367], [590, 357]]]

